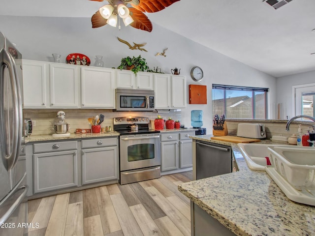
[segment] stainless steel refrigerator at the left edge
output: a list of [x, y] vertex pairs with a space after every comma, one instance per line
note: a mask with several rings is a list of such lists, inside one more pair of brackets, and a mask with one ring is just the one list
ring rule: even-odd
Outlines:
[[0, 32], [0, 236], [28, 235], [22, 55]]

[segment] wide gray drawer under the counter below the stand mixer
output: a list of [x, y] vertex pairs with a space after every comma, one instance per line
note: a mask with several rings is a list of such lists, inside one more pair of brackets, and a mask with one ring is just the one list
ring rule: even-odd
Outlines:
[[66, 141], [66, 142], [41, 143], [41, 144], [34, 144], [33, 148], [34, 148], [34, 153], [47, 152], [47, 151], [71, 150], [71, 149], [78, 149], [78, 142]]

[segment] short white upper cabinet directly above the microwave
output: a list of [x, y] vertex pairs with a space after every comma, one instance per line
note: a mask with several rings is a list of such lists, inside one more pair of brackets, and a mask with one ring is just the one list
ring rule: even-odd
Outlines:
[[135, 76], [130, 70], [117, 70], [117, 88], [153, 90], [152, 73], [138, 72]]

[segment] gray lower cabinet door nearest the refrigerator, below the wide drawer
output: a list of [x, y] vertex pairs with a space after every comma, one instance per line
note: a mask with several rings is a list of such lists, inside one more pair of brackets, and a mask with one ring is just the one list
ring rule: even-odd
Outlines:
[[77, 151], [33, 155], [34, 193], [78, 186]]

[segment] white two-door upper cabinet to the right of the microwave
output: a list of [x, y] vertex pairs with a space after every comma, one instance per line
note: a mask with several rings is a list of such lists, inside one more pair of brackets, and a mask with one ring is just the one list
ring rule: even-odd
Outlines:
[[155, 108], [186, 108], [186, 77], [180, 75], [154, 75]]

